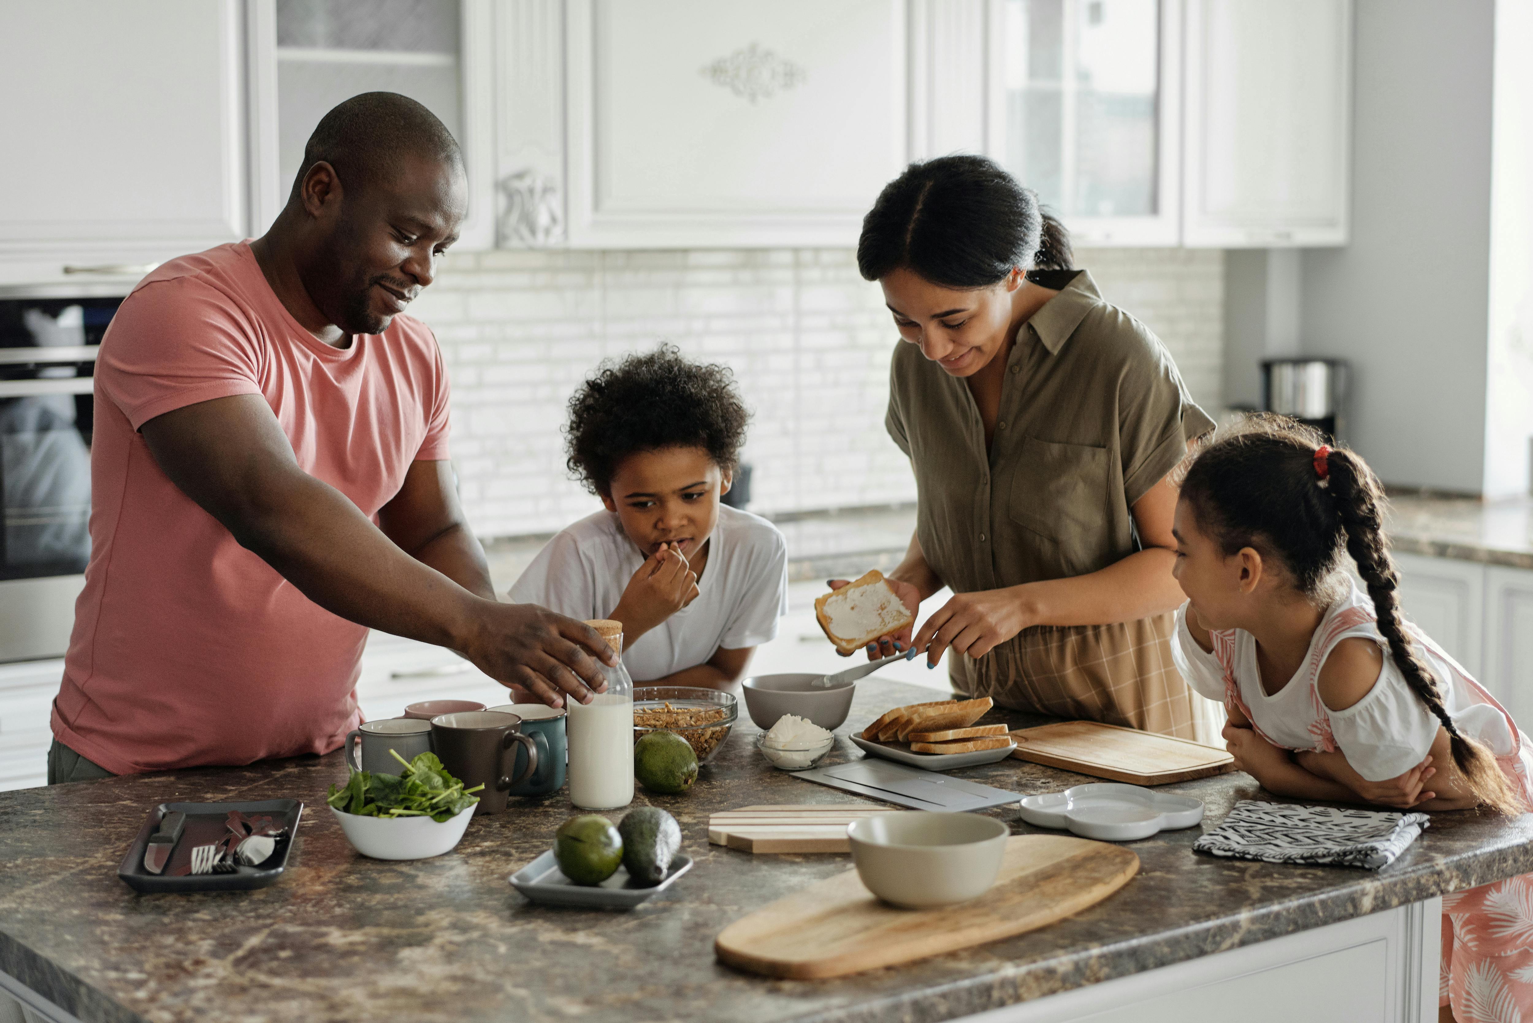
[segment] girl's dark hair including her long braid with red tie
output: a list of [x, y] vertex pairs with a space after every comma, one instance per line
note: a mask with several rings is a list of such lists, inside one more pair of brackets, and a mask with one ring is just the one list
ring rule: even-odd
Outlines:
[[1384, 535], [1384, 488], [1352, 451], [1334, 446], [1317, 469], [1321, 434], [1283, 416], [1251, 416], [1197, 452], [1182, 480], [1197, 528], [1233, 555], [1252, 548], [1288, 569], [1294, 586], [1317, 597], [1352, 555], [1374, 598], [1378, 632], [1410, 692], [1452, 739], [1453, 762], [1475, 796], [1499, 813], [1524, 811], [1522, 798], [1490, 752], [1459, 733], [1436, 678], [1400, 617], [1400, 575]]

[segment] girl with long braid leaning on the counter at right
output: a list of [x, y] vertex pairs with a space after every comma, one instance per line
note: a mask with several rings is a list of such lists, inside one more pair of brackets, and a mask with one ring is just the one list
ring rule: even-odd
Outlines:
[[[1185, 469], [1174, 537], [1188, 601], [1173, 656], [1225, 702], [1225, 742], [1263, 788], [1397, 810], [1533, 808], [1533, 752], [1512, 716], [1403, 620], [1383, 488], [1355, 452], [1251, 417]], [[1533, 1009], [1533, 874], [1444, 897], [1439, 1005], [1458, 1023]]]

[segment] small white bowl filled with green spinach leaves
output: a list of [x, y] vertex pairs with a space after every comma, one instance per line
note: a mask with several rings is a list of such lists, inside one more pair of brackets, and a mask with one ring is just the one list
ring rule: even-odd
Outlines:
[[394, 755], [399, 775], [351, 771], [345, 785], [331, 785], [325, 802], [340, 830], [373, 859], [429, 859], [451, 851], [469, 827], [481, 788], [463, 788], [435, 753], [412, 761]]

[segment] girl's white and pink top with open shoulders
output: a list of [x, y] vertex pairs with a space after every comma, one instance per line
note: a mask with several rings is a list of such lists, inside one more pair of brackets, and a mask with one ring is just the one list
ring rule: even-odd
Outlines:
[[[1309, 653], [1298, 672], [1271, 696], [1262, 689], [1256, 638], [1243, 629], [1210, 632], [1213, 652], [1205, 652], [1187, 627], [1188, 604], [1176, 612], [1176, 643], [1171, 656], [1188, 684], [1203, 696], [1239, 707], [1257, 735], [1289, 750], [1341, 752], [1348, 764], [1369, 781], [1404, 775], [1420, 764], [1436, 739], [1438, 719], [1410, 692], [1389, 644], [1378, 632], [1374, 601], [1355, 583], [1337, 600], [1309, 640]], [[1512, 716], [1452, 656], [1415, 624], [1406, 633], [1436, 678], [1438, 692], [1453, 724], [1495, 753], [1501, 770], [1533, 805], [1533, 753]], [[1346, 710], [1329, 710], [1320, 699], [1320, 666], [1341, 640], [1377, 643], [1384, 653], [1378, 681], [1363, 699]]]

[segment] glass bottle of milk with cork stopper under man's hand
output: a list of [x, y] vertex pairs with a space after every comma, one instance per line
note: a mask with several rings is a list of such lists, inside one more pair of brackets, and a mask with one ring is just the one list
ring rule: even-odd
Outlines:
[[[622, 656], [622, 623], [587, 621]], [[569, 701], [570, 802], [581, 810], [616, 810], [633, 802], [633, 679], [618, 661], [598, 661], [607, 692], [589, 702]]]

